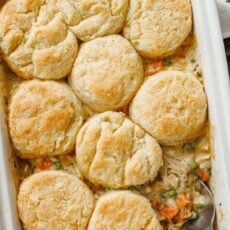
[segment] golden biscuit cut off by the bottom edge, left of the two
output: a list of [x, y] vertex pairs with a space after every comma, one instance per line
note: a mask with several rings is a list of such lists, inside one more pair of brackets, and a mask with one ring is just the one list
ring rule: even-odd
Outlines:
[[25, 229], [85, 230], [94, 196], [76, 176], [44, 171], [22, 182], [17, 204]]

